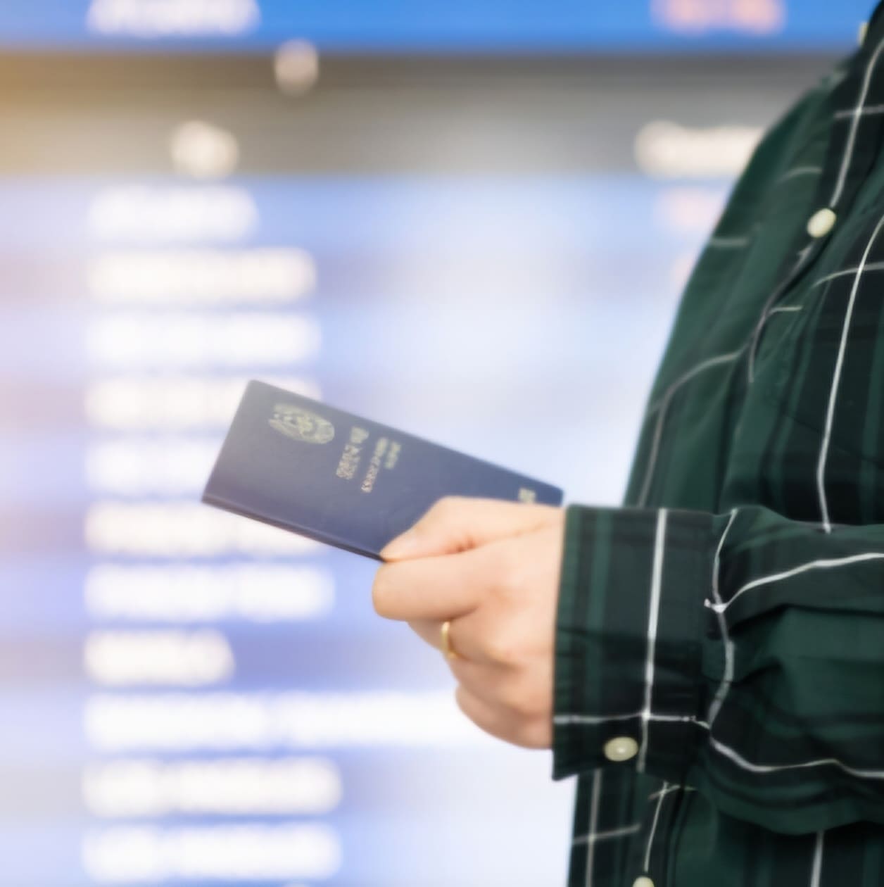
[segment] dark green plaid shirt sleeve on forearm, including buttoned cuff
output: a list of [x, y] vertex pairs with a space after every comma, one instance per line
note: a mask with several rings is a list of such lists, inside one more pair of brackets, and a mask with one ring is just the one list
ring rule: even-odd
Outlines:
[[884, 526], [569, 506], [553, 773], [635, 767], [803, 834], [884, 824]]

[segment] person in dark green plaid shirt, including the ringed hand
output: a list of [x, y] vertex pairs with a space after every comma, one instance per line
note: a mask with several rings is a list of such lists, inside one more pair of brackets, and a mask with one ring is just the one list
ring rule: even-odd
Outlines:
[[576, 774], [571, 887], [884, 884], [882, 11], [739, 178], [624, 505], [443, 499], [382, 553], [467, 717]]

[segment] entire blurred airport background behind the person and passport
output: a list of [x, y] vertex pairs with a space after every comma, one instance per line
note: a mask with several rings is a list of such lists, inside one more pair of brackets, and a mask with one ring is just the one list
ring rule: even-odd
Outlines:
[[564, 883], [550, 753], [372, 563], [199, 491], [257, 377], [616, 503], [732, 178], [869, 7], [3, 0], [0, 883]]

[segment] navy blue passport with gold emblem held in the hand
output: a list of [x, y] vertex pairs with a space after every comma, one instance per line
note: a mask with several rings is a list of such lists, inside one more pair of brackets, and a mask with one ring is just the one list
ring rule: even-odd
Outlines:
[[251, 381], [202, 500], [379, 560], [444, 496], [562, 501], [548, 483]]

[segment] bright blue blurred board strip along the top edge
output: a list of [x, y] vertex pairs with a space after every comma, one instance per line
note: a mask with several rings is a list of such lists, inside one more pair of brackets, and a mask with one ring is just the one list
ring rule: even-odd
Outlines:
[[4, 0], [35, 49], [847, 51], [871, 0]]

